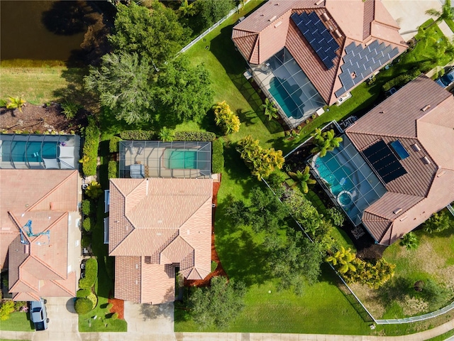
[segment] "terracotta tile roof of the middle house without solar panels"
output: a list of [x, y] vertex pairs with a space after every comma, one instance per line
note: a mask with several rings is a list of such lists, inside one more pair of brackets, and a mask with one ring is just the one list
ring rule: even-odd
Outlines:
[[[121, 259], [116, 261], [116, 298], [173, 300], [175, 274], [172, 281], [163, 277], [172, 264], [188, 274], [210, 272], [212, 192], [211, 179], [111, 179], [109, 255]], [[160, 286], [150, 286], [146, 278]]]

